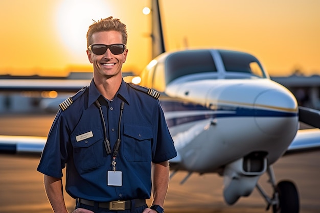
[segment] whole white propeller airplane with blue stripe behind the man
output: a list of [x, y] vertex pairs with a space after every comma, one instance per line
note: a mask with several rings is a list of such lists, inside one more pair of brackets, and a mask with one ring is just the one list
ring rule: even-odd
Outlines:
[[[272, 165], [283, 155], [320, 148], [320, 111], [298, 106], [252, 54], [221, 49], [166, 52], [159, 2], [152, 0], [152, 8], [156, 57], [142, 71], [140, 85], [161, 93], [178, 152], [170, 160], [170, 178], [187, 171], [183, 183], [192, 173], [217, 173], [224, 179], [228, 205], [257, 188], [267, 209], [299, 212], [295, 184], [277, 184]], [[25, 87], [18, 89], [31, 88]], [[315, 128], [299, 130], [299, 121]], [[45, 137], [0, 136], [2, 152], [41, 153], [44, 144]], [[265, 173], [272, 197], [258, 183]]]

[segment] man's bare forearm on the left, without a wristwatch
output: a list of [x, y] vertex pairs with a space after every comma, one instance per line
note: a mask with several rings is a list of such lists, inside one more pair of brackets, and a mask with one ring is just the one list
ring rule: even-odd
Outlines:
[[67, 213], [63, 199], [62, 180], [47, 175], [44, 175], [43, 180], [45, 193], [47, 193], [53, 211], [55, 213]]

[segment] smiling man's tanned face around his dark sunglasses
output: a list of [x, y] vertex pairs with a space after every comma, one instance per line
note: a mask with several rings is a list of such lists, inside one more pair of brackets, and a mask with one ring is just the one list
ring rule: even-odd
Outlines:
[[[92, 35], [92, 44], [117, 44], [122, 43], [122, 35], [117, 31], [103, 31]], [[96, 55], [92, 51], [87, 50], [90, 63], [94, 67], [94, 77], [111, 78], [113, 76], [121, 77], [122, 64], [126, 61], [128, 50], [126, 49], [119, 55], [112, 54], [110, 49], [102, 55]]]

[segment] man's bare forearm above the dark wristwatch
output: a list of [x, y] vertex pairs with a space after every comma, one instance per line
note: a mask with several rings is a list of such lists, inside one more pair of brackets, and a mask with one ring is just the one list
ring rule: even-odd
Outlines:
[[153, 163], [152, 204], [164, 206], [169, 186], [169, 162]]

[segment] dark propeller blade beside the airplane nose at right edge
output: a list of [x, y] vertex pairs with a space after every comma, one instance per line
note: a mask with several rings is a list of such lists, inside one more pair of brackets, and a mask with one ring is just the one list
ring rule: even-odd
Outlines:
[[320, 129], [320, 111], [299, 106], [299, 121]]

